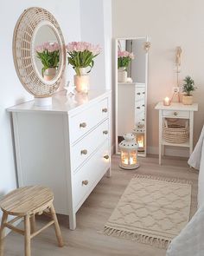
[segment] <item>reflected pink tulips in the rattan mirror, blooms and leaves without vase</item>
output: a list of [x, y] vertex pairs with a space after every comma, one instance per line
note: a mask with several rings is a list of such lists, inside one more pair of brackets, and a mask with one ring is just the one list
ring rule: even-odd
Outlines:
[[35, 48], [36, 56], [41, 60], [43, 65], [41, 74], [43, 76], [46, 69], [57, 69], [60, 62], [60, 47], [54, 42], [45, 42]]

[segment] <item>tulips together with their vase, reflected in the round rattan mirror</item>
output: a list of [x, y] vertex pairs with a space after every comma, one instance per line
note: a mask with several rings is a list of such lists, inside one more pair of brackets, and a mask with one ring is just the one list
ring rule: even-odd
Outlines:
[[60, 48], [56, 42], [45, 42], [35, 48], [36, 56], [41, 60], [41, 75], [46, 81], [53, 80], [60, 62]]

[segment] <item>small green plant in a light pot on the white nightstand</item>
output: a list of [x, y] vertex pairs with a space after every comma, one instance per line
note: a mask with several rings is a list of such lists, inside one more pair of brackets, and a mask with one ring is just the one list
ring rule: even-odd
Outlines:
[[182, 103], [184, 105], [192, 105], [193, 104], [193, 95], [191, 94], [196, 88], [194, 87], [194, 80], [187, 75], [183, 80], [185, 83], [182, 86]]

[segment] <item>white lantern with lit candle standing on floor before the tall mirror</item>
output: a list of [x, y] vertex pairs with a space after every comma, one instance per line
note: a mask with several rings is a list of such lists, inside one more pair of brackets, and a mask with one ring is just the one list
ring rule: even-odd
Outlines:
[[139, 167], [137, 161], [138, 145], [135, 141], [135, 136], [132, 134], [124, 135], [124, 141], [119, 143], [120, 148], [120, 164], [124, 169], [136, 169]]

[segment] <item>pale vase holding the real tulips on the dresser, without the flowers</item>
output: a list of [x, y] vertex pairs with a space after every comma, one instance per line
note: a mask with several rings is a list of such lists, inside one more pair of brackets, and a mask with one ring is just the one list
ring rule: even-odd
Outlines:
[[80, 75], [73, 76], [73, 82], [76, 91], [79, 93], [88, 93], [89, 91], [89, 75], [86, 73], [86, 68], [80, 68]]

